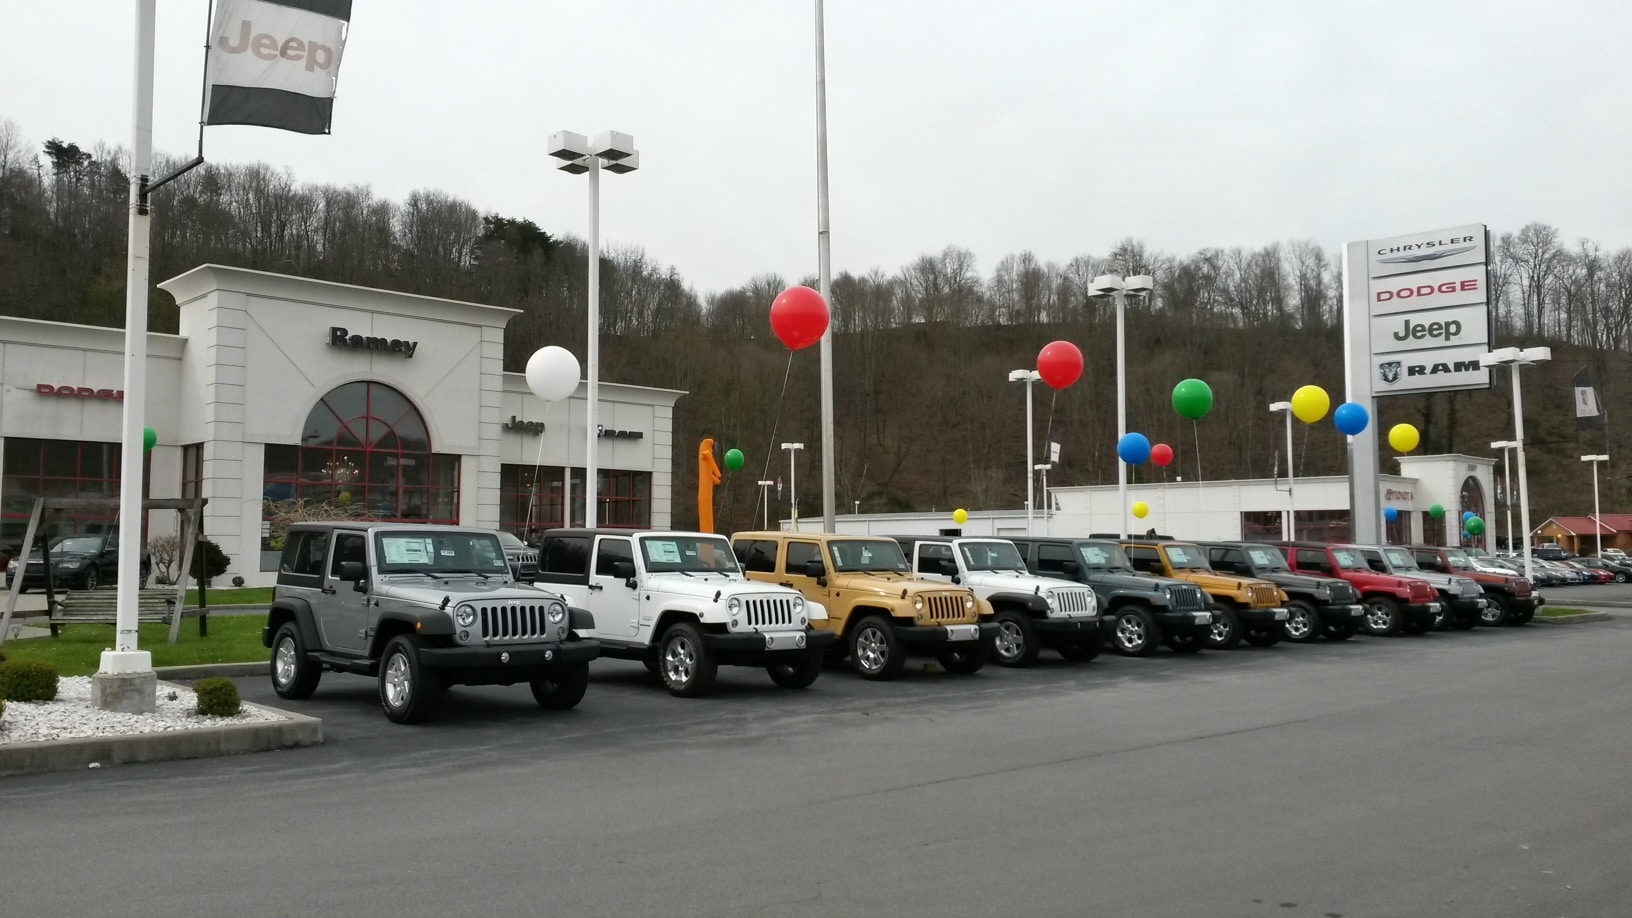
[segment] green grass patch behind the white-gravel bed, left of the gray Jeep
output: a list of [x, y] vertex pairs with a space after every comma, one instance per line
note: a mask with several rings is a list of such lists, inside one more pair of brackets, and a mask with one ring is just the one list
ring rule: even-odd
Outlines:
[[[214, 590], [211, 591], [214, 593]], [[209, 637], [199, 637], [197, 621], [181, 622], [181, 639], [171, 645], [170, 626], [145, 622], [137, 647], [153, 655], [153, 666], [193, 666], [197, 663], [264, 663], [271, 650], [261, 647], [264, 616], [211, 616]], [[7, 660], [46, 660], [64, 676], [90, 676], [101, 668], [101, 652], [114, 645], [111, 624], [72, 624], [59, 637], [7, 640], [0, 653]]]

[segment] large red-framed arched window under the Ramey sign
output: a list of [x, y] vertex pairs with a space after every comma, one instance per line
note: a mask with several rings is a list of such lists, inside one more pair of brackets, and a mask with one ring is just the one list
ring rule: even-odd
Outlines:
[[300, 446], [268, 444], [268, 519], [290, 508], [335, 516], [459, 521], [459, 456], [431, 451], [424, 417], [382, 382], [348, 382], [323, 395]]

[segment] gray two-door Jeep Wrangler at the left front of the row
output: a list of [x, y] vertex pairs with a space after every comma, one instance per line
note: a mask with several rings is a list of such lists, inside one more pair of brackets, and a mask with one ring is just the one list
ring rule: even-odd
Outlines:
[[261, 644], [273, 689], [308, 697], [325, 670], [379, 680], [397, 724], [447, 686], [527, 683], [539, 706], [576, 706], [599, 657], [589, 613], [511, 580], [491, 529], [415, 523], [289, 528]]

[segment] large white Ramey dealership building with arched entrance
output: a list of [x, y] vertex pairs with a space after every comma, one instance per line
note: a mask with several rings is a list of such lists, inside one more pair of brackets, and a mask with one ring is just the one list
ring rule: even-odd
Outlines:
[[[204, 265], [158, 284], [180, 333], [147, 336], [144, 493], [207, 500], [227, 578], [271, 585], [302, 513], [486, 526], [524, 534], [584, 516], [586, 385], [563, 402], [504, 372], [516, 309]], [[0, 317], [0, 550], [36, 498], [119, 493], [124, 330]], [[602, 382], [604, 526], [671, 519], [674, 402]], [[152, 511], [149, 537], [175, 533]], [[52, 534], [116, 529], [72, 510]]]

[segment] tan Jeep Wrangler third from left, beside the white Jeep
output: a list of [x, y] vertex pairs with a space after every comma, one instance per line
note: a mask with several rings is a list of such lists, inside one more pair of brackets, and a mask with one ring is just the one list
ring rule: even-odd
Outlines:
[[829, 533], [736, 533], [731, 549], [749, 580], [805, 593], [827, 609], [811, 626], [840, 635], [832, 650], [868, 680], [901, 673], [909, 653], [934, 655], [950, 673], [986, 665], [997, 626], [963, 586], [917, 580], [894, 539]]

